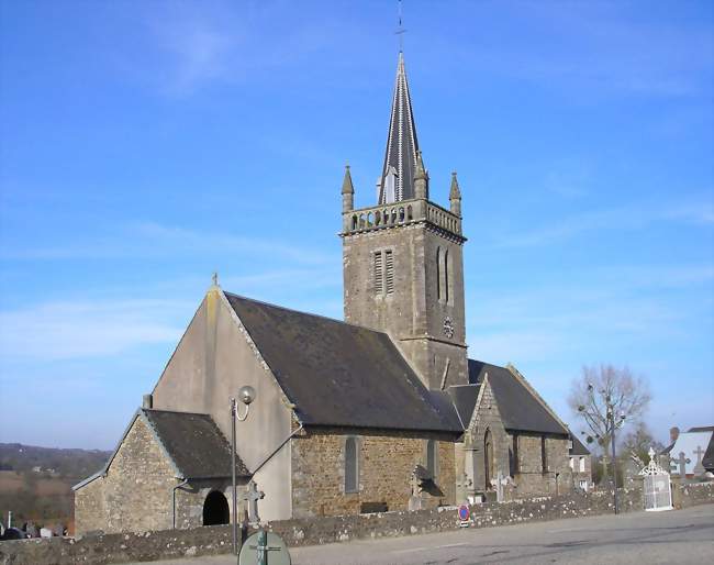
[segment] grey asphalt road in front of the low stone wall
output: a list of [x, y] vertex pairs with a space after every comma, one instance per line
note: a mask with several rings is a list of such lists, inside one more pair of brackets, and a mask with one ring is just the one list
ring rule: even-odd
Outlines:
[[[712, 563], [714, 505], [290, 550], [293, 565]], [[159, 562], [228, 565], [230, 555]]]

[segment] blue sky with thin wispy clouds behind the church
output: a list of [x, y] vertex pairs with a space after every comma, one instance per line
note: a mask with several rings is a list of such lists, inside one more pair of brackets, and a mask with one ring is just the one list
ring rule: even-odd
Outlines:
[[[299, 7], [298, 7], [299, 4]], [[714, 423], [704, 2], [404, 3], [432, 198], [464, 192], [469, 354], [564, 418], [582, 365]], [[0, 442], [108, 448], [217, 270], [342, 317], [343, 166], [375, 201], [393, 2], [0, 1]]]

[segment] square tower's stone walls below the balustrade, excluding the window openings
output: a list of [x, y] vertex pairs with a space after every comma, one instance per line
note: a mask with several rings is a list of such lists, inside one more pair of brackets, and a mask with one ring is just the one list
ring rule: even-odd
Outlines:
[[[437, 295], [437, 247], [448, 251], [448, 300]], [[380, 250], [392, 252], [391, 293], [375, 287], [373, 253]], [[468, 383], [461, 252], [453, 237], [424, 222], [343, 239], [345, 321], [389, 333], [427, 388], [440, 388], [447, 359], [446, 384]], [[447, 317], [451, 336], [444, 333]]]

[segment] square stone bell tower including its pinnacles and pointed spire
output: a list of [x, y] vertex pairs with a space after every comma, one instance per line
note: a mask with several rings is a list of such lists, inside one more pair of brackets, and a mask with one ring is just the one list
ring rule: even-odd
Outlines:
[[468, 384], [461, 191], [451, 176], [449, 209], [429, 200], [400, 52], [377, 204], [354, 209], [345, 170], [345, 321], [391, 335], [427, 388]]

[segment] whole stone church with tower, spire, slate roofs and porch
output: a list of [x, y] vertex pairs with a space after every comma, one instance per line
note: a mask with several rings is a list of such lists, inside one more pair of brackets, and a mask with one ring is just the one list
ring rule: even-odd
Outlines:
[[345, 320], [214, 284], [111, 459], [75, 487], [77, 532], [226, 522], [244, 385], [236, 470], [242, 495], [250, 478], [265, 492], [264, 520], [572, 489], [566, 424], [514, 366], [468, 357], [464, 233], [456, 174], [448, 207], [429, 199], [400, 53], [377, 202], [354, 208], [348, 167], [342, 186]]

